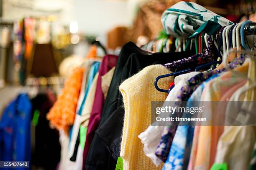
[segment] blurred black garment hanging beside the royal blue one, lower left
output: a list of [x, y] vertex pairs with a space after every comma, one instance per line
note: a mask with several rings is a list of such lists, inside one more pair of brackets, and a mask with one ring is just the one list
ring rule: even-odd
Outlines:
[[53, 106], [46, 94], [39, 94], [31, 100], [33, 113], [40, 112], [35, 130], [35, 149], [32, 152], [31, 163], [36, 169], [55, 170], [60, 161], [61, 146], [59, 132], [49, 127], [46, 114]]

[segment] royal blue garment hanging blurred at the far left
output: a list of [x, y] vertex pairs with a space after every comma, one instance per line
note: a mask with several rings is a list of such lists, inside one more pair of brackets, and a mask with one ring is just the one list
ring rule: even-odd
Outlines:
[[[1, 161], [31, 160], [31, 109], [32, 105], [26, 94], [18, 95], [5, 108], [0, 121]], [[17, 168], [23, 169], [25, 170]]]

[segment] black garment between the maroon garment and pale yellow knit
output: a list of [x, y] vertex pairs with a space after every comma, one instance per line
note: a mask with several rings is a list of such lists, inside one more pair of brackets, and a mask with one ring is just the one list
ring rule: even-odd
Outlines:
[[147, 52], [141, 50], [132, 42], [128, 42], [123, 46], [105, 100], [100, 125], [95, 132], [97, 135], [92, 140], [86, 158], [86, 170], [115, 169], [116, 160], [120, 154], [124, 119], [123, 97], [118, 90], [121, 82], [148, 65], [164, 64], [189, 56], [191, 56], [189, 52], [148, 55]]

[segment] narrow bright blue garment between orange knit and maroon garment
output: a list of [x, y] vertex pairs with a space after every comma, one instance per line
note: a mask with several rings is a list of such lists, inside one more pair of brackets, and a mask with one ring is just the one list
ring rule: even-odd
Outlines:
[[83, 107], [84, 107], [84, 103], [85, 103], [87, 94], [90, 90], [90, 87], [92, 85], [92, 81], [93, 81], [96, 73], [98, 72], [99, 68], [100, 68], [100, 62], [97, 62], [97, 61], [94, 62], [91, 66], [91, 69], [90, 69], [90, 72], [89, 72], [89, 75], [88, 75], [87, 85], [86, 85], [85, 92], [84, 92], [84, 98], [83, 98], [83, 101], [82, 101], [81, 106], [79, 108], [78, 115], [82, 115], [82, 110], [83, 110]]

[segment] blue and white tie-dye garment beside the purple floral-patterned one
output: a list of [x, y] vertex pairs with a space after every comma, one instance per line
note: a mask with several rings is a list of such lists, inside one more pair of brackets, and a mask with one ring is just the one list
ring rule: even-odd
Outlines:
[[[186, 107], [199, 107], [200, 97], [205, 84], [220, 74], [213, 75], [209, 79], [205, 80], [195, 92], [189, 97]], [[192, 102], [194, 101], [194, 102]], [[197, 103], [195, 103], [198, 101]], [[189, 117], [190, 113], [182, 114], [182, 117]], [[162, 170], [182, 170], [187, 169], [189, 163], [189, 156], [194, 136], [194, 126], [190, 125], [179, 125], [172, 141], [172, 146], [166, 162]]]

